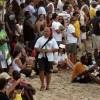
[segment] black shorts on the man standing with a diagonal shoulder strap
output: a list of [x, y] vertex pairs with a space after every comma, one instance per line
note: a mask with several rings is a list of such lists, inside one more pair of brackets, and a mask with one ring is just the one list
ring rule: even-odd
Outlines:
[[45, 73], [52, 73], [52, 67], [53, 63], [48, 61], [48, 62], [44, 62], [41, 59], [38, 60], [38, 70], [40, 71], [44, 71]]

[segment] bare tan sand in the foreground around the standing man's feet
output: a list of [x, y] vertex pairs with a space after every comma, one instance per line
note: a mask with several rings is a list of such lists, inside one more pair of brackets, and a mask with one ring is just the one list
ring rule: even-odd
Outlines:
[[52, 74], [50, 90], [39, 90], [39, 77], [28, 81], [36, 89], [35, 100], [100, 100], [100, 85], [71, 83], [69, 72]]

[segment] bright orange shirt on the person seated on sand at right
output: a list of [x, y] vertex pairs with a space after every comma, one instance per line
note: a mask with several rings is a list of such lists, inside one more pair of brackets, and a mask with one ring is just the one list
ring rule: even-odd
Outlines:
[[83, 73], [86, 70], [85, 65], [83, 65], [81, 62], [77, 62], [72, 71], [72, 81], [81, 73]]

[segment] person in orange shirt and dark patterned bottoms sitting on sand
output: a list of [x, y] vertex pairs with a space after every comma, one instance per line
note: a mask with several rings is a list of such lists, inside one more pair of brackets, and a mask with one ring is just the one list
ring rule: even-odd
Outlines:
[[[97, 84], [100, 84], [100, 79], [96, 77], [96, 75], [92, 74], [95, 72], [95, 69], [97, 69], [96, 66], [92, 68], [88, 68], [86, 66], [86, 56], [82, 56], [80, 62], [77, 62], [72, 71], [72, 82], [79, 82], [79, 83], [89, 83], [91, 81], [96, 82]], [[97, 64], [100, 61], [100, 57], [97, 60]]]

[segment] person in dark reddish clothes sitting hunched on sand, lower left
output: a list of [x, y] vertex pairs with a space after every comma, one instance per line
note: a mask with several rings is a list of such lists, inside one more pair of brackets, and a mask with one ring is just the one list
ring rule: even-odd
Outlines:
[[23, 100], [34, 100], [33, 95], [35, 95], [36, 90], [29, 84], [28, 81], [25, 80], [25, 77], [22, 79], [21, 76], [20, 72], [13, 71], [12, 79], [9, 81], [9, 84], [13, 84], [20, 79], [19, 85], [15, 88], [15, 94], [23, 94], [21, 96]]

